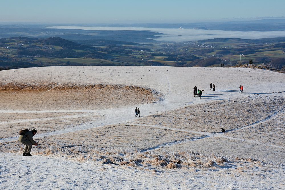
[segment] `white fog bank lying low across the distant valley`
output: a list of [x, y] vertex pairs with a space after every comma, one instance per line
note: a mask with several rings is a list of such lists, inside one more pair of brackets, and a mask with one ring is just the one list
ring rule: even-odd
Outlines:
[[195, 30], [181, 28], [143, 28], [143, 27], [92, 27], [92, 26], [47, 26], [47, 28], [57, 29], [82, 29], [82, 30], [148, 30], [152, 32], [160, 32], [164, 35], [156, 38], [157, 41], [196, 41], [211, 38], [273, 38], [285, 36], [285, 31], [225, 31], [225, 30]]

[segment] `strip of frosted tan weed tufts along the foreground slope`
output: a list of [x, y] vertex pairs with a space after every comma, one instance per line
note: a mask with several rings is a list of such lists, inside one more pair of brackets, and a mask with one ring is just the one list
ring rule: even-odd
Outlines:
[[[1, 152], [16, 152], [15, 149], [1, 148]], [[23, 147], [21, 147], [23, 150]], [[18, 152], [19, 150], [17, 150]], [[86, 146], [50, 146], [40, 149], [38, 155], [63, 156], [79, 162], [99, 162], [121, 167], [134, 167], [148, 171], [164, 171], [165, 169], [196, 169], [196, 171], [234, 169], [247, 172], [265, 167], [262, 160], [256, 158], [232, 158], [227, 156], [202, 155], [194, 150], [164, 152], [157, 154], [152, 151], [140, 152], [123, 149], [99, 148]]]

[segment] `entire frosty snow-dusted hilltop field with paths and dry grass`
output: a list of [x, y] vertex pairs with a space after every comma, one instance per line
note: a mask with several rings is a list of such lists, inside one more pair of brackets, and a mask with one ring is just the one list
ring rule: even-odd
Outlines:
[[[284, 73], [70, 66], [0, 76], [0, 189], [285, 189]], [[21, 156], [24, 128], [38, 130], [32, 157]]]

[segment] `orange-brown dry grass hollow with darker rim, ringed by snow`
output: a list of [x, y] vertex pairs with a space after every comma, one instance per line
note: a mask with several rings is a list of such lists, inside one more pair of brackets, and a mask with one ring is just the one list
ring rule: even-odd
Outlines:
[[0, 99], [5, 99], [0, 102], [1, 109], [102, 109], [151, 103], [153, 94], [150, 89], [136, 86], [57, 84], [42, 81], [2, 83]]

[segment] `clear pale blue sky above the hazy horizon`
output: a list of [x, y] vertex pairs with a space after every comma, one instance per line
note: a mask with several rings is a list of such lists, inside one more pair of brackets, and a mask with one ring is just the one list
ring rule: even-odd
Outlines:
[[5, 0], [0, 22], [191, 23], [285, 18], [284, 0]]

